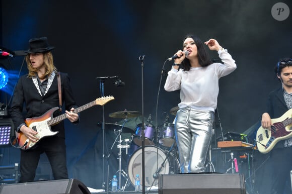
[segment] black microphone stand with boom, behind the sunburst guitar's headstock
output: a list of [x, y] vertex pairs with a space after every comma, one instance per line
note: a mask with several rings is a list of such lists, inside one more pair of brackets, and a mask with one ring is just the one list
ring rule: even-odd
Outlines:
[[[112, 77], [97, 77], [96, 79], [99, 79], [100, 81], [100, 95], [101, 97], [104, 97], [104, 81], [107, 78], [118, 78], [119, 76], [112, 76]], [[102, 106], [102, 188], [105, 188], [105, 168], [104, 168], [104, 149], [105, 149], [105, 117], [104, 117], [104, 105]], [[108, 154], [107, 159], [110, 157], [110, 154]], [[108, 162], [108, 161], [107, 161]], [[107, 177], [107, 185], [108, 185], [108, 177]]]

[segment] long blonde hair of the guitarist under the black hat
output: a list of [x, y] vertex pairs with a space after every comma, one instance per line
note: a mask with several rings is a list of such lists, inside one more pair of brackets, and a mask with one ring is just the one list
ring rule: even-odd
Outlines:
[[[40, 77], [41, 79], [45, 78], [47, 75], [50, 75], [53, 71], [57, 72], [57, 68], [55, 67], [54, 62], [53, 62], [52, 53], [50, 51], [43, 52], [43, 55], [44, 55], [44, 65], [45, 65], [46, 72], [43, 77]], [[35, 76], [35, 74], [37, 73], [39, 69], [33, 68], [29, 59], [29, 54], [25, 57], [25, 61], [27, 63], [27, 68], [28, 68], [28, 77], [30, 78], [32, 76]]]

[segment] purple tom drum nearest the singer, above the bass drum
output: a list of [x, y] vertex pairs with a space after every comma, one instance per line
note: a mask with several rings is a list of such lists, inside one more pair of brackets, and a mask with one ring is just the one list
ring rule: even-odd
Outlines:
[[171, 147], [175, 142], [174, 124], [162, 125], [159, 127], [159, 144], [165, 147]]

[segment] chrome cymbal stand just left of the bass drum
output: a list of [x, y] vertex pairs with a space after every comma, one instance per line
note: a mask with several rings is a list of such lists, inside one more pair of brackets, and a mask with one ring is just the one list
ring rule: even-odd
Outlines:
[[[115, 143], [116, 143], [116, 141], [117, 141], [117, 139], [118, 139], [118, 137], [119, 137], [119, 141], [118, 141], [118, 145], [117, 145], [117, 147], [119, 148], [119, 153], [118, 153], [118, 160], [119, 160], [119, 170], [117, 171], [117, 172], [119, 172], [119, 189], [121, 189], [121, 174], [122, 174], [122, 172], [123, 172], [123, 176], [125, 177], [125, 175], [126, 175], [126, 173], [124, 172], [124, 170], [122, 170], [122, 148], [126, 148], [126, 154], [128, 154], [128, 148], [130, 148], [130, 145], [127, 143], [127, 142], [129, 142], [129, 141], [125, 141], [126, 142], [126, 145], [122, 145], [122, 136], [121, 136], [121, 134], [122, 134], [122, 131], [123, 131], [123, 127], [124, 127], [124, 125], [125, 125], [125, 123], [127, 122], [127, 115], [126, 115], [126, 117], [125, 117], [125, 121], [124, 121], [124, 123], [123, 123], [123, 125], [122, 125], [122, 127], [121, 127], [121, 129], [120, 130], [118, 130], [118, 135], [117, 135], [117, 137], [116, 137], [116, 139], [115, 139], [115, 141], [114, 141], [114, 143], [113, 143], [113, 145], [112, 145], [112, 147], [111, 147], [111, 150], [113, 149], [113, 147], [114, 147], [114, 145], [115, 145]], [[128, 177], [127, 177], [127, 175], [126, 175], [126, 178], [127, 178], [127, 180], [126, 180], [126, 184], [127, 184], [127, 182], [128, 182]], [[126, 184], [125, 184], [125, 186], [126, 186]], [[124, 187], [125, 186], [123, 186], [123, 190], [125, 189]]]

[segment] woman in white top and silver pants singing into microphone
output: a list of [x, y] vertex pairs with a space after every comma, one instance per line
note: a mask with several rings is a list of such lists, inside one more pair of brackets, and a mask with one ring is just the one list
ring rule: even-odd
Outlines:
[[[224, 64], [212, 63], [204, 44], [217, 51]], [[205, 171], [219, 92], [218, 80], [236, 69], [232, 56], [216, 40], [210, 39], [204, 44], [193, 35], [184, 38], [183, 51], [175, 53], [180, 58], [175, 59], [164, 85], [166, 91], [180, 89], [175, 137], [182, 173]]]

